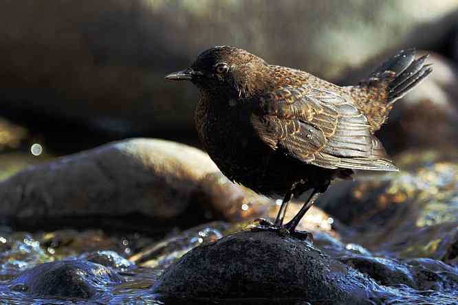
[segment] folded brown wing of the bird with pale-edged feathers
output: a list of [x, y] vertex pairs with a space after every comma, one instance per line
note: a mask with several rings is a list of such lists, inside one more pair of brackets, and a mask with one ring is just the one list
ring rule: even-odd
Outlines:
[[285, 86], [254, 102], [252, 126], [272, 149], [316, 166], [397, 170], [349, 99], [307, 84]]

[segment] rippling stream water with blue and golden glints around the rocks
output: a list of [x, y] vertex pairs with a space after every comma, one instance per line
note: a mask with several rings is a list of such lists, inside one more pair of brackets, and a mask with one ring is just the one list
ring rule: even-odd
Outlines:
[[[354, 211], [343, 215], [341, 221], [323, 212], [307, 215], [308, 223], [314, 225], [316, 247], [342, 262], [374, 259], [383, 270], [394, 270], [393, 274], [397, 274], [399, 262], [404, 262], [433, 277], [416, 288], [399, 282], [382, 283], [378, 291], [378, 302], [382, 304], [458, 304], [458, 159], [455, 157], [431, 152], [406, 153], [398, 160], [404, 168], [399, 174], [363, 176], [353, 184], [336, 187], [329, 196], [334, 201], [345, 197], [349, 201], [346, 206]], [[329, 202], [324, 200], [323, 208], [335, 212]], [[271, 215], [275, 209], [273, 205]], [[177, 300], [152, 293], [151, 287], [162, 271], [193, 247], [247, 225], [214, 222], [154, 237], [109, 234], [97, 229], [30, 233], [1, 227], [0, 304], [175, 304]], [[43, 262], [87, 259], [97, 251], [114, 251], [120, 255], [119, 263], [113, 263], [111, 268], [118, 271], [124, 282], [102, 285], [102, 290], [89, 302], [34, 297], [21, 286], [10, 284], [19, 273]], [[245, 301], [218, 304], [275, 303]], [[278, 304], [307, 302], [289, 299]]]

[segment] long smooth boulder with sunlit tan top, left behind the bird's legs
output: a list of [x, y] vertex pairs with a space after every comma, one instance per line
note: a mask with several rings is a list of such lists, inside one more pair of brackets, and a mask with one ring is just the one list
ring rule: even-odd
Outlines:
[[[184, 225], [240, 220], [272, 204], [229, 182], [201, 150], [160, 139], [114, 142], [0, 182], [0, 216], [28, 227], [97, 223], [153, 231], [183, 214]], [[125, 219], [116, 222], [116, 217]]]

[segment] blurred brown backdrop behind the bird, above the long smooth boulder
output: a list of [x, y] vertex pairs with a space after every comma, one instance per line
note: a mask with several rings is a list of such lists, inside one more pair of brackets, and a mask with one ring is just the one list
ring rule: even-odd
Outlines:
[[339, 84], [399, 49], [428, 50], [435, 73], [380, 136], [389, 153], [437, 141], [432, 132], [456, 139], [457, 10], [456, 0], [3, 0], [0, 175], [126, 137], [198, 146], [197, 89], [164, 75], [213, 45]]

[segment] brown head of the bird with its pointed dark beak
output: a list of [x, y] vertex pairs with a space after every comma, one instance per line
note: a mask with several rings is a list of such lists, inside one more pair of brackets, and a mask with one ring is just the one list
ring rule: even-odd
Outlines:
[[168, 80], [190, 80], [204, 93], [248, 97], [268, 84], [268, 64], [236, 47], [207, 49], [187, 69], [168, 74]]

